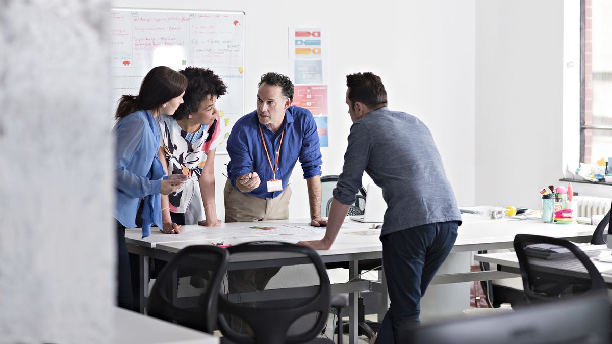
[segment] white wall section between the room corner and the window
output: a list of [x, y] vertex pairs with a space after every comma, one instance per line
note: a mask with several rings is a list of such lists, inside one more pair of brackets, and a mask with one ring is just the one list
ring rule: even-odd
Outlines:
[[563, 1], [476, 2], [477, 204], [539, 209], [559, 184], [563, 34]]

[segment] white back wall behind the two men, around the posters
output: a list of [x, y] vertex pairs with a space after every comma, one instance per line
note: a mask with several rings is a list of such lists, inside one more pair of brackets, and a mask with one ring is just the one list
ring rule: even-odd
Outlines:
[[[116, 7], [168, 8], [163, 0], [114, 0]], [[383, 78], [389, 107], [430, 127], [460, 204], [474, 203], [474, 1], [175, 1], [176, 9], [244, 10], [245, 104], [255, 109], [266, 72], [288, 73], [288, 27], [323, 26], [329, 33], [329, 148], [323, 174], [339, 174], [351, 121], [346, 75], [371, 71]], [[223, 219], [224, 163], [215, 159], [217, 210]], [[309, 217], [299, 163], [291, 178], [291, 217]]]

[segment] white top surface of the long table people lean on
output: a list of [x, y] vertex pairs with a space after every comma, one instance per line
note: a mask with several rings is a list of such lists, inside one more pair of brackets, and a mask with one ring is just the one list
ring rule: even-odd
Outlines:
[[[484, 249], [502, 249], [512, 247], [512, 241], [516, 234], [535, 234], [551, 237], [569, 238], [572, 240], [583, 239], [588, 241], [595, 230], [592, 225], [555, 225], [543, 223], [541, 220], [489, 220], [482, 219], [472, 214], [462, 214], [463, 224], [459, 227], [457, 241], [452, 252], [465, 252]], [[229, 233], [250, 226], [276, 226], [283, 228], [283, 225], [300, 225], [306, 227], [308, 219], [289, 219], [274, 220], [264, 222], [241, 222], [241, 223], [222, 223], [218, 227], [204, 227], [198, 225], [182, 226], [181, 234], [163, 234], [158, 230], [152, 229], [151, 236], [141, 238], [140, 228], [125, 230], [125, 241], [129, 244], [155, 248], [169, 252], [178, 252], [188, 245], [211, 244], [211, 242], [223, 241], [229, 244], [238, 244], [239, 239], [231, 238]], [[342, 255], [353, 252], [380, 252], [383, 248], [378, 237], [380, 230], [373, 230], [373, 223], [361, 223], [347, 219], [345, 225], [340, 230], [340, 234], [332, 248], [326, 251], [319, 251], [319, 255]], [[290, 230], [291, 227], [286, 227]], [[324, 236], [324, 228], [312, 228], [316, 233], [310, 239], [320, 239]], [[261, 234], [261, 239], [265, 236], [253, 231], [253, 236]], [[303, 236], [300, 236], [303, 239]], [[291, 235], [283, 236], [283, 240], [291, 240]]]

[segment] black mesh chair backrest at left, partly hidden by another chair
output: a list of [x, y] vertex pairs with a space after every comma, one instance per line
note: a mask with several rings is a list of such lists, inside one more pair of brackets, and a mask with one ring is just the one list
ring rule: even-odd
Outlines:
[[230, 253], [216, 246], [185, 247], [157, 275], [147, 314], [212, 334], [229, 260]]

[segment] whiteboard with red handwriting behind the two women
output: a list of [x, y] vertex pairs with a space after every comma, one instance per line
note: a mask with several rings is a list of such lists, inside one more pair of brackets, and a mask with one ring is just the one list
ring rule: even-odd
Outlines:
[[211, 69], [227, 84], [217, 100], [223, 143], [244, 115], [244, 12], [111, 9], [113, 108], [124, 94], [138, 94], [146, 73], [158, 65]]

